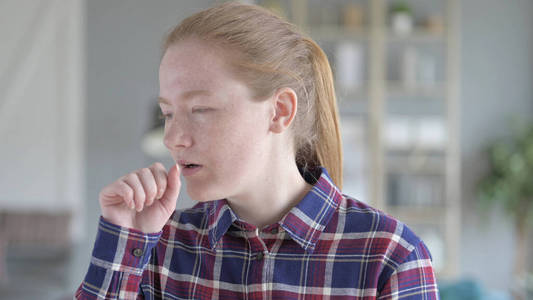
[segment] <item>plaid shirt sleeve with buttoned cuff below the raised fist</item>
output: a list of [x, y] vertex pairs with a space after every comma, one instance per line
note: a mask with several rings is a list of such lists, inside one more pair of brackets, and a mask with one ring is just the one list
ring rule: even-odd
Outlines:
[[139, 285], [161, 233], [121, 227], [100, 216], [89, 270], [75, 299], [143, 299]]

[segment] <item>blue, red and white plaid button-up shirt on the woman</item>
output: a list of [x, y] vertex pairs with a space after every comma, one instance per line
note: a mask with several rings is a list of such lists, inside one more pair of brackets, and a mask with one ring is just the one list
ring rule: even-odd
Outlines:
[[317, 171], [300, 203], [261, 230], [226, 200], [177, 210], [157, 234], [100, 217], [75, 298], [438, 299], [425, 244]]

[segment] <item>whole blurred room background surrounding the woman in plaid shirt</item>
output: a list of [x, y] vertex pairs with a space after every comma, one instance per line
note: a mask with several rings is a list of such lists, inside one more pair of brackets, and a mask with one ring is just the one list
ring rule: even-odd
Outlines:
[[[160, 45], [215, 2], [0, 1], [1, 299], [71, 298], [100, 189], [172, 165]], [[422, 237], [442, 299], [533, 299], [533, 1], [246, 2], [328, 55], [344, 192]]]

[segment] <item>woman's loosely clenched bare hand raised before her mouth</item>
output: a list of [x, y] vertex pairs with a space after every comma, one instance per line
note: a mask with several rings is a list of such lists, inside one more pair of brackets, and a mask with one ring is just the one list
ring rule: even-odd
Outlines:
[[161, 231], [176, 209], [181, 181], [178, 165], [168, 172], [154, 163], [120, 177], [100, 191], [102, 217], [144, 233]]

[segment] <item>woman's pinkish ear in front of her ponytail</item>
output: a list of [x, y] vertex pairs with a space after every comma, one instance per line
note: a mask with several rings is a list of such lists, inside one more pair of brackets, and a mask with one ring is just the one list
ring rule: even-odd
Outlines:
[[293, 89], [285, 87], [278, 89], [271, 100], [274, 115], [270, 121], [270, 131], [282, 133], [289, 128], [294, 120], [294, 116], [296, 116], [298, 96]]

